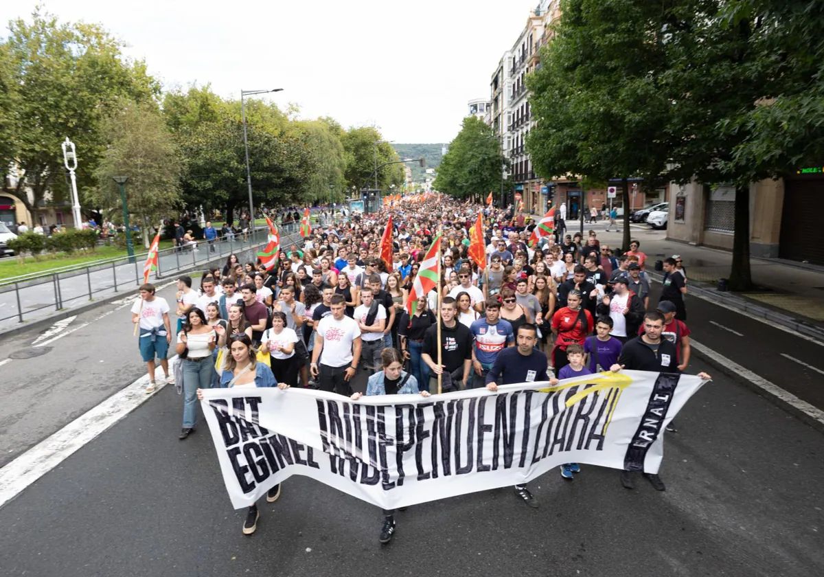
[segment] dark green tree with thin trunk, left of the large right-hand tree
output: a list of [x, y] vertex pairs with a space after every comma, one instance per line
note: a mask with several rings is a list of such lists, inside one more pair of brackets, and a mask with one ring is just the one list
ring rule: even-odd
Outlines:
[[[662, 126], [669, 103], [660, 86], [667, 8], [639, 0], [566, 0], [561, 10], [541, 68], [527, 78], [537, 120], [527, 150], [545, 178], [620, 178], [629, 207], [628, 179], [640, 176], [653, 189], [667, 162]], [[623, 246], [630, 246], [629, 210]]]

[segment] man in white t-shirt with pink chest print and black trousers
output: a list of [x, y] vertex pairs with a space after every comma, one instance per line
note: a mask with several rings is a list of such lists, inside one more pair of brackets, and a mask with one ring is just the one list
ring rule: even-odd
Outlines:
[[350, 396], [349, 381], [360, 360], [361, 331], [358, 323], [344, 314], [346, 301], [342, 294], [332, 296], [330, 309], [331, 314], [317, 324], [309, 369], [312, 377], [319, 379], [322, 391]]

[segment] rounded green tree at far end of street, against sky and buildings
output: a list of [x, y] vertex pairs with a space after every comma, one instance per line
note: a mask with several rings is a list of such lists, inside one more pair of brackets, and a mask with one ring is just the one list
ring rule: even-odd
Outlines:
[[468, 116], [441, 160], [433, 187], [457, 199], [480, 201], [489, 190], [499, 189], [505, 163], [492, 128]]

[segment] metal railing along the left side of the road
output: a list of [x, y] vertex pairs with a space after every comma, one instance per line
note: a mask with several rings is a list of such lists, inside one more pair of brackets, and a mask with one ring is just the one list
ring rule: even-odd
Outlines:
[[[281, 246], [288, 249], [293, 242], [300, 240], [299, 226], [299, 223], [288, 223], [279, 227]], [[213, 260], [264, 245], [267, 234], [267, 228], [257, 228], [247, 235], [246, 240], [241, 233], [219, 237], [211, 245], [199, 240], [197, 251], [193, 250], [194, 246], [191, 249], [164, 249], [158, 252], [154, 275], [160, 279], [182, 270], [206, 268]], [[143, 283], [143, 264], [147, 254], [143, 252], [132, 258], [123, 256], [96, 260], [85, 265], [3, 279], [0, 281], [0, 324], [15, 318], [18, 322], [24, 322], [27, 317], [43, 317], [36, 313], [46, 309], [57, 312], [77, 306], [78, 302], [91, 301], [96, 295], [133, 290]]]

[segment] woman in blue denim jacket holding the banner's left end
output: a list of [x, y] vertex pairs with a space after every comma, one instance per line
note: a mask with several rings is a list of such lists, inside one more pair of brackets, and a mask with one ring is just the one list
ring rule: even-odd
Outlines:
[[[283, 314], [283, 313], [281, 313]], [[251, 339], [246, 335], [234, 335], [229, 345], [229, 358], [220, 377], [221, 388], [232, 387], [278, 387], [282, 391], [289, 388], [285, 382], [277, 382], [269, 367], [257, 362], [257, 351], [252, 347]], [[197, 390], [197, 398], [203, 399], [203, 391]], [[274, 503], [280, 497], [280, 485], [275, 485], [266, 493], [266, 501]], [[246, 511], [243, 534], [251, 535], [257, 529], [260, 518], [257, 504]]]

